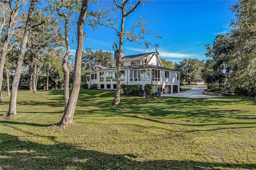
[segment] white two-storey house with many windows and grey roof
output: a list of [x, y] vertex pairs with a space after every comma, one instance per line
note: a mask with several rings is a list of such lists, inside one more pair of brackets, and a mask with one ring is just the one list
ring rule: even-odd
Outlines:
[[[115, 59], [118, 51], [115, 52]], [[112, 66], [94, 65], [86, 73], [87, 84], [98, 84], [98, 89], [116, 89], [116, 61]], [[180, 92], [179, 70], [165, 68], [158, 52], [129, 55], [121, 57], [121, 84], [157, 85], [157, 92]]]

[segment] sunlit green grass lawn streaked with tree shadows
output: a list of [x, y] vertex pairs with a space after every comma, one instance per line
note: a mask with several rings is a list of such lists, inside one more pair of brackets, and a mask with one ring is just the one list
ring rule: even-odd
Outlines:
[[18, 115], [0, 118], [0, 169], [256, 169], [253, 98], [122, 96], [111, 106], [114, 93], [81, 89], [76, 123], [60, 131], [63, 90], [18, 91]]

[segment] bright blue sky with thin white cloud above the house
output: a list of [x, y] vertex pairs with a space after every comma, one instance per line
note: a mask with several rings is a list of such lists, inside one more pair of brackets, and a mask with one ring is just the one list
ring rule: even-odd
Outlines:
[[[206, 60], [206, 47], [218, 34], [231, 30], [231, 20], [235, 13], [229, 10], [237, 0], [154, 0], [139, 6], [135, 13], [126, 18], [125, 27], [133, 25], [140, 17], [150, 21], [146, 29], [158, 33], [162, 38], [147, 36], [147, 40], [158, 44], [160, 57], [167, 61], [179, 62], [185, 58]], [[109, 27], [96, 30], [85, 26], [88, 37], [84, 40], [84, 49], [93, 51], [114, 51], [112, 44], [118, 39], [116, 31]], [[71, 45], [71, 53], [75, 54], [76, 44]], [[144, 53], [144, 46], [124, 41], [125, 55]], [[154, 48], [145, 52], [153, 52]]]

